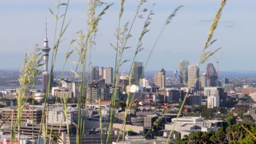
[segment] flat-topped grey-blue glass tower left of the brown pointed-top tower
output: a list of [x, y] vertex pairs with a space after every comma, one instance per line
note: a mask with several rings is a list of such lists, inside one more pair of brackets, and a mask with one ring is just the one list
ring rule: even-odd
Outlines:
[[134, 79], [135, 83], [139, 83], [139, 79], [144, 78], [144, 67], [142, 62], [134, 62], [132, 64], [132, 78]]

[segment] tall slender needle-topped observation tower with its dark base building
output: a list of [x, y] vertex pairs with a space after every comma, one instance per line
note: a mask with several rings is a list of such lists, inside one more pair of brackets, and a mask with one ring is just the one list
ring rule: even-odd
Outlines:
[[49, 80], [50, 80], [50, 90], [53, 87], [53, 75], [50, 75], [50, 72], [48, 71], [48, 59], [49, 59], [50, 50], [51, 49], [48, 46], [48, 38], [47, 38], [47, 23], [45, 22], [45, 38], [44, 38], [44, 47], [42, 49], [43, 57], [44, 57], [44, 71], [43, 71], [43, 77], [42, 77], [43, 92], [47, 91]]

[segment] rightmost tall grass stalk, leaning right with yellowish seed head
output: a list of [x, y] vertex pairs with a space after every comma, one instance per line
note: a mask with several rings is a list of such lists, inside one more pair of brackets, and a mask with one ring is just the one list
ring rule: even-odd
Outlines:
[[[215, 31], [216, 28], [217, 28], [217, 25], [218, 25], [220, 16], [222, 15], [222, 10], [223, 10], [225, 4], [226, 4], [226, 0], [222, 0], [222, 3], [220, 4], [220, 7], [219, 7], [219, 9], [218, 9], [218, 11], [217, 11], [217, 14], [215, 15], [214, 20], [213, 20], [213, 22], [212, 22], [212, 26], [211, 26], [211, 28], [210, 28], [210, 32], [209, 32], [208, 38], [207, 38], [207, 40], [206, 40], [206, 43], [203, 45], [203, 49], [202, 49], [202, 52], [201, 52], [201, 56], [200, 56], [200, 58], [199, 58], [199, 62], [197, 63], [197, 69], [196, 69], [196, 71], [199, 70], [199, 65], [200, 65], [200, 64], [205, 63], [205, 62], [208, 60], [208, 58], [209, 58], [210, 56], [212, 56], [214, 53], [216, 53], [216, 52], [219, 50], [219, 49], [216, 49], [216, 50], [214, 50], [214, 51], [205, 52], [205, 51], [207, 50], [207, 48], [208, 48], [210, 45], [212, 45], [212, 44], [216, 41], [216, 40], [212, 40], [212, 37], [213, 37], [214, 31]], [[178, 67], [181, 69], [181, 71], [184, 71], [184, 70], [182, 69], [181, 65], [178, 65]], [[184, 74], [184, 72], [183, 72], [183, 74]], [[183, 75], [183, 77], [185, 77], [185, 76]], [[196, 82], [196, 81], [198, 81], [198, 79], [196, 78], [196, 74], [195, 74], [194, 79], [193, 79], [193, 82], [188, 83], [188, 92], [190, 91], [190, 89], [191, 89], [191, 87], [192, 87], [192, 84], [193, 84], [194, 82]], [[174, 122], [174, 125], [173, 125], [173, 127], [172, 127], [171, 133], [168, 135], [168, 139], [167, 139], [167, 141], [166, 141], [166, 144], [170, 141], [171, 135], [172, 135], [173, 130], [174, 130], [174, 128], [175, 128], [175, 125], [176, 125], [176, 123], [177, 123], [177, 119], [178, 119], [178, 117], [181, 115], [181, 111], [182, 111], [182, 109], [183, 109], [183, 107], [184, 107], [184, 104], [185, 104], [185, 101], [186, 101], [187, 97], [188, 97], [188, 93], [185, 95], [185, 98], [184, 98], [184, 100], [183, 100], [183, 103], [182, 103], [182, 105], [181, 105], [181, 108], [179, 109], [178, 115], [177, 115], [177, 117], [176, 117], [176, 121]]]

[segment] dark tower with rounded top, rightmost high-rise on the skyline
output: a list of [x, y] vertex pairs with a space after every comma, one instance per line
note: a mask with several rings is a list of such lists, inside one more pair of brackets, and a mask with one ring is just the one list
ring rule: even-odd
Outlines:
[[218, 81], [218, 74], [212, 63], [208, 63], [206, 67], [206, 78], [208, 87], [216, 87]]

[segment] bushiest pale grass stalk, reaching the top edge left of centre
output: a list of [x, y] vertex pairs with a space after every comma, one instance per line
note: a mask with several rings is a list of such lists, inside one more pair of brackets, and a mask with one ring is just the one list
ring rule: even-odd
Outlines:
[[[86, 65], [86, 58], [87, 58], [87, 52], [88, 48], [94, 44], [94, 41], [91, 41], [94, 39], [96, 32], [97, 32], [97, 26], [98, 22], [101, 20], [101, 17], [106, 13], [106, 10], [112, 5], [108, 4], [97, 16], [95, 16], [95, 9], [101, 5], [102, 3], [100, 1], [88, 1], [88, 7], [89, 7], [89, 18], [88, 18], [88, 28], [86, 30], [86, 35], [83, 35], [82, 31], [79, 31], [79, 39], [77, 41], [78, 43], [78, 49], [77, 54], [78, 54], [78, 62], [74, 62], [77, 66], [75, 70], [72, 70], [72, 73], [74, 74], [73, 79], [75, 76], [78, 76], [77, 70], [82, 69], [82, 73], [79, 75], [79, 96], [78, 96], [78, 122], [76, 127], [77, 127], [77, 143], [82, 142], [82, 137], [84, 135], [84, 124], [85, 121], [80, 119], [82, 117], [82, 109], [80, 109], [81, 104], [85, 104], [85, 110], [86, 110], [86, 105], [87, 105], [87, 99], [88, 99], [88, 91], [86, 91], [85, 95], [85, 101], [83, 101], [84, 97], [84, 87], [85, 87], [85, 65]], [[89, 83], [87, 84], [88, 88]]]

